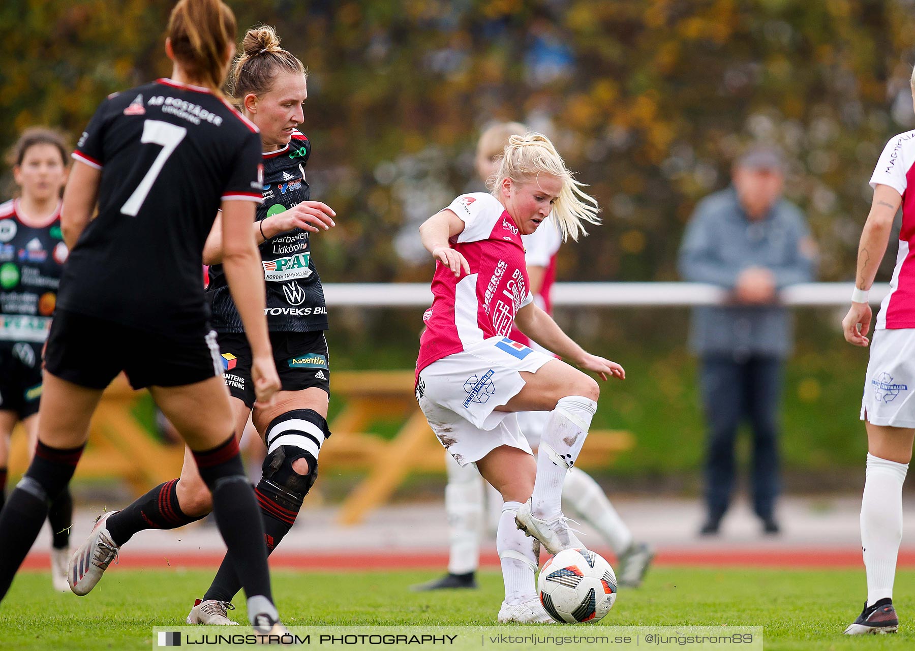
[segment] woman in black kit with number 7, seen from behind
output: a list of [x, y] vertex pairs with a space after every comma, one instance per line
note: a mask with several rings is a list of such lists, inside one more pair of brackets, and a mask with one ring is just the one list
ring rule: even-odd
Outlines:
[[[172, 79], [103, 101], [73, 157], [61, 222], [70, 259], [48, 336], [38, 449], [0, 515], [0, 596], [38, 534], [48, 501], [70, 482], [102, 390], [122, 370], [148, 387], [188, 443], [248, 597], [255, 629], [278, 634], [264, 528], [232, 432], [219, 348], [200, 287], [203, 245], [222, 210], [223, 258], [253, 349], [257, 400], [279, 389], [264, 283], [251, 238], [261, 203], [260, 135], [222, 99], [235, 17], [220, 0], [181, 0], [166, 52]], [[98, 203], [98, 214], [92, 219]], [[208, 334], [209, 333], [209, 334]], [[77, 594], [117, 548], [99, 518], [70, 559]]]

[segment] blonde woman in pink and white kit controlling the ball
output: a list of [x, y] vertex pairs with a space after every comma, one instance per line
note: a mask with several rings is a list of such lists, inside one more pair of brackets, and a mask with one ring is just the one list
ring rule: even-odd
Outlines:
[[[420, 227], [438, 263], [434, 300], [416, 362], [416, 397], [433, 432], [461, 465], [505, 500], [497, 549], [505, 580], [499, 621], [552, 621], [537, 599], [537, 545], [550, 553], [582, 547], [560, 507], [565, 473], [585, 443], [597, 409], [597, 382], [564, 361], [508, 338], [517, 326], [601, 379], [625, 377], [619, 364], [591, 355], [533, 304], [521, 236], [553, 212], [564, 237], [599, 223], [597, 202], [580, 189], [550, 140], [511, 136], [492, 194], [456, 198]], [[551, 411], [538, 458], [517, 411]]]

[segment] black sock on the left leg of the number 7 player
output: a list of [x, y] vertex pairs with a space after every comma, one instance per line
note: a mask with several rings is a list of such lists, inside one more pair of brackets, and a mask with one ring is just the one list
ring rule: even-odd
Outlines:
[[41, 441], [26, 475], [0, 513], [0, 600], [48, 517], [48, 504], [70, 483], [84, 445], [52, 448]]

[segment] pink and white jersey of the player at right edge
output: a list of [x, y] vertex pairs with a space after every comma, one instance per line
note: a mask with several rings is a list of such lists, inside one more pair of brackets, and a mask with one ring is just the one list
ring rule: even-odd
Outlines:
[[870, 186], [889, 186], [902, 196], [902, 229], [889, 293], [880, 304], [875, 328], [915, 328], [915, 131], [890, 138], [877, 161]]

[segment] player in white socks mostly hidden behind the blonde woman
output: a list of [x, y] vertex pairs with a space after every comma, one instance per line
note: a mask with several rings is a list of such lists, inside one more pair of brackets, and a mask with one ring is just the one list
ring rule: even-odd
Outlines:
[[[496, 123], [479, 136], [476, 169], [479, 178], [486, 182], [499, 171], [502, 154], [512, 135], [523, 135], [528, 130], [522, 123]], [[548, 315], [553, 314], [551, 293], [555, 280], [556, 255], [562, 245], [562, 235], [552, 219], [530, 235], [522, 235], [524, 260], [527, 264], [529, 288], [533, 302]], [[539, 347], [517, 328], [511, 331], [517, 341], [547, 355], [550, 351]], [[527, 442], [535, 451], [549, 420], [547, 411], [520, 411], [518, 422]], [[431, 582], [413, 587], [414, 591], [442, 590], [448, 588], [476, 588], [476, 571], [479, 568], [480, 539], [491, 525], [498, 527], [502, 498], [490, 484], [483, 481], [477, 468], [461, 466], [450, 454], [445, 454], [447, 486], [445, 509], [448, 521], [447, 574]], [[485, 499], [484, 499], [485, 496]], [[648, 569], [653, 552], [651, 547], [633, 539], [630, 529], [619, 518], [603, 489], [580, 468], [565, 475], [563, 486], [565, 505], [578, 517], [596, 528], [616, 554], [619, 585], [640, 585]], [[489, 503], [489, 508], [484, 507]], [[493, 514], [494, 516], [490, 516]]]

